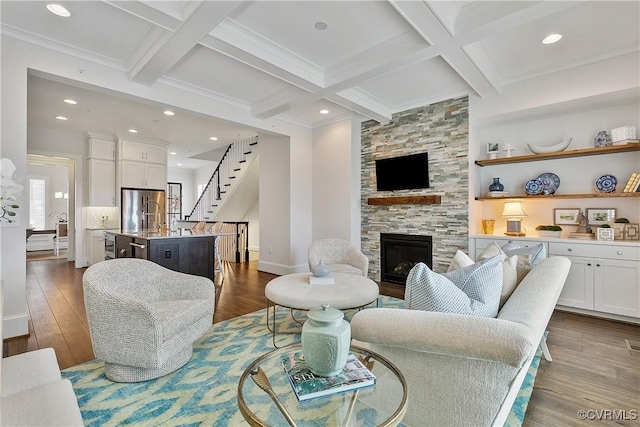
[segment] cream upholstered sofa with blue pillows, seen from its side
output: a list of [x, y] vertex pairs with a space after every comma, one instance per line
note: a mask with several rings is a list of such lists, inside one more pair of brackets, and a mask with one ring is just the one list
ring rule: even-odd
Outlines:
[[[407, 309], [356, 313], [351, 336], [404, 374], [410, 426], [502, 426], [544, 332], [571, 262], [536, 265], [497, 318]], [[549, 357], [550, 358], [550, 357]]]

